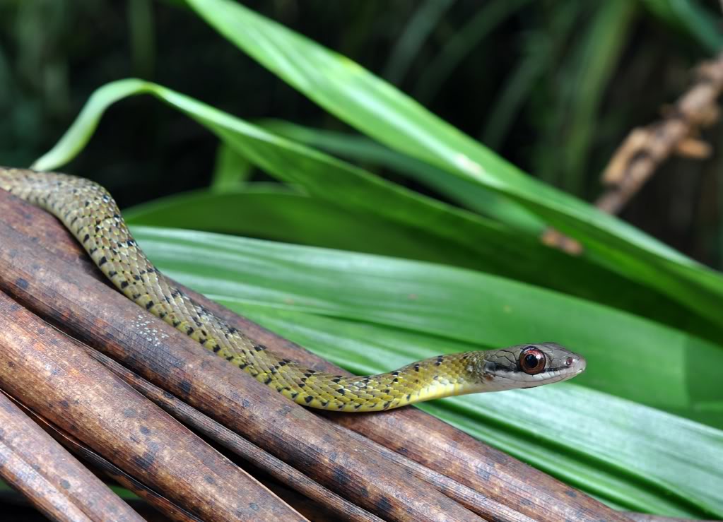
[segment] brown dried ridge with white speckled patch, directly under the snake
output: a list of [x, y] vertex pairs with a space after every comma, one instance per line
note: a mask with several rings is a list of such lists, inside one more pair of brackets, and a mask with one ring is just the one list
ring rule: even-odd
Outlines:
[[[350, 441], [328, 420], [270, 393], [187, 335], [44, 249], [39, 239], [31, 238], [33, 230], [50, 224], [43, 222], [46, 214], [38, 211], [43, 217], [36, 218], [29, 205], [13, 212], [5, 203], [20, 202], [7, 194], [0, 199], [5, 218], [0, 223], [0, 289], [24, 306], [381, 518], [480, 520], [385, 461], [373, 445]], [[23, 222], [31, 229], [17, 230]]]

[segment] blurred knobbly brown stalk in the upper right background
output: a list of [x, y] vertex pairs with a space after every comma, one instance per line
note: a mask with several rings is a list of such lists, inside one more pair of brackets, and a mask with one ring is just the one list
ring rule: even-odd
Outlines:
[[[705, 159], [711, 147], [698, 138], [701, 129], [716, 123], [720, 111], [716, 100], [723, 90], [723, 53], [696, 67], [695, 82], [675, 103], [664, 110], [664, 117], [647, 127], [633, 129], [618, 147], [602, 174], [607, 187], [595, 206], [617, 214], [643, 187], [656, 169], [671, 155]], [[580, 254], [583, 247], [553, 228], [542, 234], [551, 247]]]

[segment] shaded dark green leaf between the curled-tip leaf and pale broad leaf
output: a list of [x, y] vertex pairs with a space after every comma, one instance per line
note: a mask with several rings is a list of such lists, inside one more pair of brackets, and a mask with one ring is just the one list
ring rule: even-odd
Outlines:
[[426, 245], [435, 238], [420, 241], [423, 232], [273, 184], [176, 194], [124, 210], [123, 215], [131, 225], [223, 232], [433, 262], [453, 264], [464, 254], [453, 247], [429, 249]]

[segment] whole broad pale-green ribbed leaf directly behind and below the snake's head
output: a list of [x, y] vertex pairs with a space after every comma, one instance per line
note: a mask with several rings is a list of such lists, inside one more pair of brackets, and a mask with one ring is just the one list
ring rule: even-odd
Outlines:
[[723, 515], [722, 431], [596, 391], [660, 407], [720, 404], [723, 352], [710, 343], [471, 270], [201, 232], [134, 234], [168, 275], [357, 373], [470, 348], [565, 343], [589, 361], [573, 384], [424, 408], [617, 505]]

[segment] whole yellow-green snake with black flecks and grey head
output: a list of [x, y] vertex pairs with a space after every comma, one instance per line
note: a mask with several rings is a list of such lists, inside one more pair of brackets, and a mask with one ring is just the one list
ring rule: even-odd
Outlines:
[[451, 395], [534, 388], [568, 380], [586, 367], [583, 356], [546, 342], [445, 354], [379, 375], [316, 371], [253, 341], [161, 274], [133, 239], [111, 194], [95, 181], [0, 167], [0, 188], [59, 218], [135, 304], [302, 406], [384, 411]]

